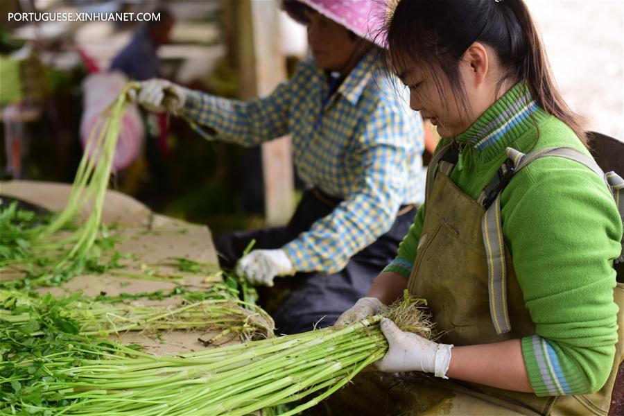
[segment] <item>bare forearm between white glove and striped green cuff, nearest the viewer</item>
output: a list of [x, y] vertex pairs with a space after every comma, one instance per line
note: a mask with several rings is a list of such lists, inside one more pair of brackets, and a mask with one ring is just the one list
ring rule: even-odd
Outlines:
[[533, 392], [520, 340], [453, 347], [447, 376], [505, 390]]

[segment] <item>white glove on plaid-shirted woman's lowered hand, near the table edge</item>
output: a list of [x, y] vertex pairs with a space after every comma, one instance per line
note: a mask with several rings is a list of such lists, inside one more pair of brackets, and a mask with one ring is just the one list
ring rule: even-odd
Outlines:
[[295, 268], [284, 250], [252, 250], [236, 263], [236, 274], [252, 284], [273, 286], [275, 276], [293, 275]]

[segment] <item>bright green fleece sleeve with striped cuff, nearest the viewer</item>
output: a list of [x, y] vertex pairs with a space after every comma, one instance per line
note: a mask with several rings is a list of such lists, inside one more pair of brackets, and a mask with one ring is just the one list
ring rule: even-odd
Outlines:
[[598, 175], [560, 158], [540, 159], [503, 192], [503, 234], [536, 335], [522, 340], [535, 394], [595, 392], [615, 354], [618, 307], [613, 259], [621, 220]]

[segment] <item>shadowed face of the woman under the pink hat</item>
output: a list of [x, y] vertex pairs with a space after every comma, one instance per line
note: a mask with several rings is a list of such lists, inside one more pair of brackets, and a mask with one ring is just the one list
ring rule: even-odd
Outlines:
[[336, 22], [313, 10], [306, 11], [308, 42], [314, 60], [322, 69], [340, 71], [347, 66], [357, 39]]

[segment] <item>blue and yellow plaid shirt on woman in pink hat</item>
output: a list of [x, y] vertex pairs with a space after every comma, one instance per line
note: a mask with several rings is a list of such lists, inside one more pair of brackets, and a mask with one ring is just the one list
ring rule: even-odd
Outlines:
[[297, 271], [342, 270], [390, 229], [401, 204], [422, 202], [420, 116], [375, 69], [374, 56], [365, 55], [328, 100], [327, 79], [313, 60], [264, 98], [187, 98], [184, 115], [218, 139], [257, 146], [291, 135], [302, 180], [343, 199], [282, 248]]

